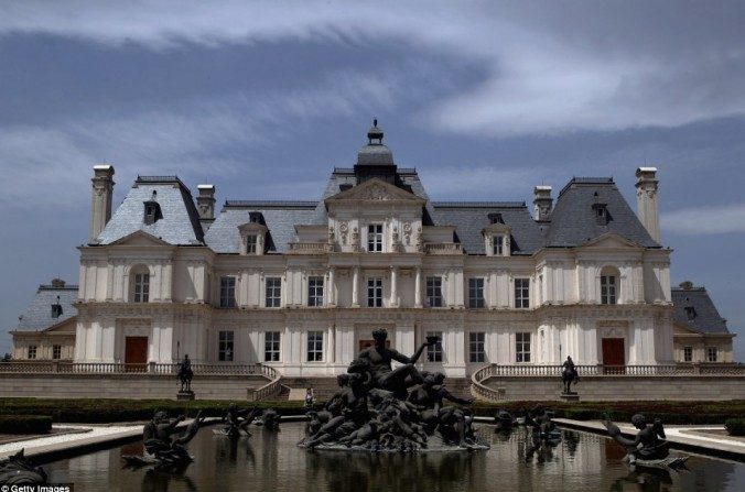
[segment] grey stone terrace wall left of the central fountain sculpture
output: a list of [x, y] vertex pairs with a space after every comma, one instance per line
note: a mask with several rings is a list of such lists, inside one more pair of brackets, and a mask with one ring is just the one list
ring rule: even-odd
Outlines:
[[[199, 375], [192, 381], [198, 400], [246, 400], [269, 380], [261, 375]], [[176, 398], [172, 374], [0, 374], [0, 396], [45, 398]]]

